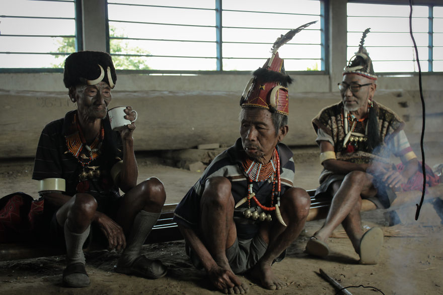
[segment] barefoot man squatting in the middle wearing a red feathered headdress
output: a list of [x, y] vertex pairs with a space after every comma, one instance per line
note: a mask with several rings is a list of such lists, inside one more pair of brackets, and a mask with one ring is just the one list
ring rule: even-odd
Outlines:
[[309, 213], [308, 193], [292, 187], [292, 152], [281, 143], [288, 132], [291, 78], [277, 52], [307, 25], [274, 43], [271, 58], [241, 97], [241, 138], [212, 161], [174, 213], [192, 263], [225, 293], [248, 291], [238, 273], [267, 289], [286, 286], [271, 265], [283, 259]]

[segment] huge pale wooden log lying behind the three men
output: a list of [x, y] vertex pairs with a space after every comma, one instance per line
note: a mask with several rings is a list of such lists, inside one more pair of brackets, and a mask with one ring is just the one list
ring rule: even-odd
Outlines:
[[[238, 91], [113, 91], [110, 106], [131, 105], [139, 115], [135, 149], [192, 148], [199, 144], [231, 145], [239, 136]], [[443, 105], [440, 91], [425, 92], [426, 142], [441, 141]], [[417, 90], [379, 90], [375, 100], [394, 110], [407, 123], [411, 143], [421, 131], [421, 103]], [[2, 101], [0, 158], [32, 157], [43, 127], [75, 108], [65, 92], [0, 90]], [[339, 101], [337, 92], [292, 92], [289, 97], [289, 133], [292, 146], [313, 145], [311, 119]]]

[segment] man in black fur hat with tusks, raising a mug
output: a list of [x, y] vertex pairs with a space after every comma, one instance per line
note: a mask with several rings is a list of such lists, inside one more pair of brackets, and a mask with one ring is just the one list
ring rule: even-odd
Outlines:
[[107, 111], [116, 80], [109, 54], [69, 55], [63, 81], [77, 110], [46, 125], [37, 147], [32, 178], [40, 181], [52, 239], [66, 246], [63, 285], [69, 287], [90, 284], [83, 246], [93, 232], [109, 250], [123, 250], [115, 271], [147, 278], [166, 274], [159, 260], [140, 255], [166, 194], [155, 177], [136, 183], [131, 107], [124, 110], [130, 124], [111, 130]]

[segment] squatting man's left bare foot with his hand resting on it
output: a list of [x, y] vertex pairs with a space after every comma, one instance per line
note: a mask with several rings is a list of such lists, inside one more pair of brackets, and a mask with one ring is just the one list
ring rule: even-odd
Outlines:
[[249, 291], [249, 286], [242, 282], [240, 278], [232, 272], [228, 266], [226, 269], [217, 265], [208, 271], [212, 284], [225, 294], [245, 294]]

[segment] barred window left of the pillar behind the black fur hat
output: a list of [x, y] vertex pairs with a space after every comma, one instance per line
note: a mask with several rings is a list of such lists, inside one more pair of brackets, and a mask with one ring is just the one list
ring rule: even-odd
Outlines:
[[0, 66], [62, 68], [76, 51], [73, 0], [0, 0]]

